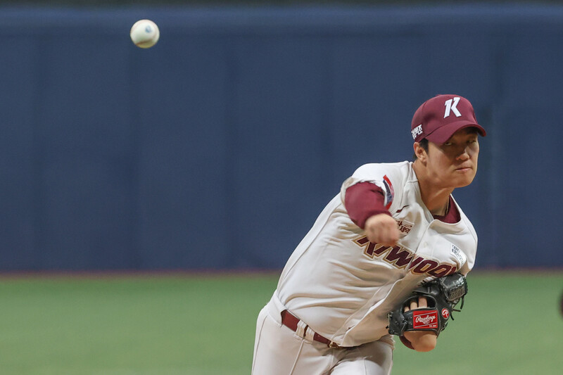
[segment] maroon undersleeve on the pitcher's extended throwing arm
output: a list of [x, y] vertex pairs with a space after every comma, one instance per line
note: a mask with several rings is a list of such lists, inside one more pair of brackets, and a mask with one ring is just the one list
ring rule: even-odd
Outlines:
[[383, 190], [371, 182], [360, 182], [350, 186], [344, 196], [344, 206], [348, 216], [362, 229], [365, 228], [365, 221], [373, 215], [385, 213], [391, 216], [384, 202]]

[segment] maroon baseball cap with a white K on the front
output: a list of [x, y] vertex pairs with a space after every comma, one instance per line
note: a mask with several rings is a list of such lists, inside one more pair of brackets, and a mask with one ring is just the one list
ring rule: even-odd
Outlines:
[[434, 96], [419, 106], [412, 117], [410, 132], [415, 142], [426, 138], [443, 144], [464, 127], [476, 127], [481, 136], [487, 134], [477, 123], [471, 103], [463, 96], [447, 94]]

